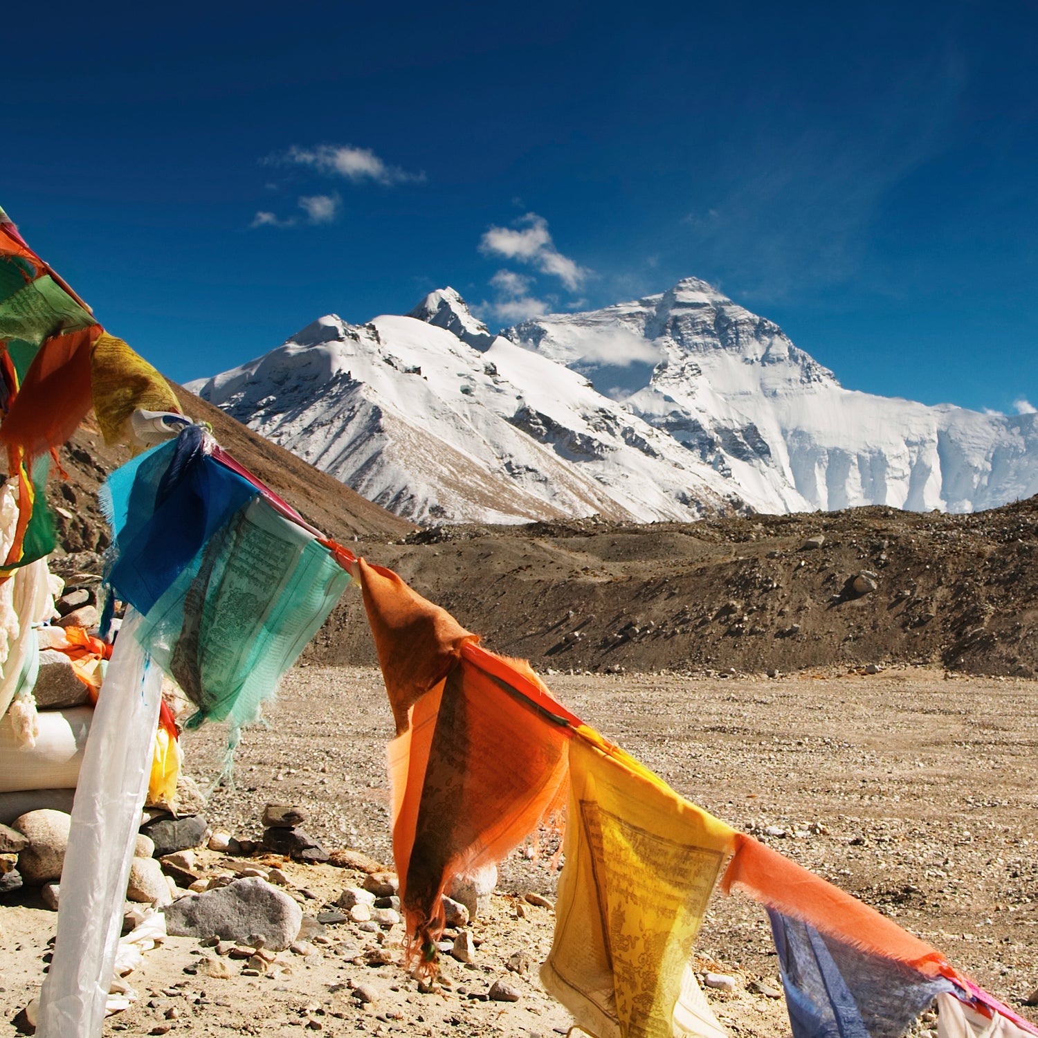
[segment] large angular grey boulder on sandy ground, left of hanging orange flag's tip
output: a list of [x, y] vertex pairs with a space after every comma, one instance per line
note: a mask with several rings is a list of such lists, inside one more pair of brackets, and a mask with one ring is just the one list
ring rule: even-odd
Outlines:
[[260, 935], [273, 951], [292, 945], [302, 920], [302, 909], [288, 894], [256, 878], [181, 898], [166, 909], [166, 930], [172, 936], [247, 940]]

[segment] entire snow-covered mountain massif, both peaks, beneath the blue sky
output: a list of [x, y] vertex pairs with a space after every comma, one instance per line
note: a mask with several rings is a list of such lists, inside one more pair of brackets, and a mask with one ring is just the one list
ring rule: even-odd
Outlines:
[[845, 389], [695, 278], [497, 336], [442, 289], [407, 317], [320, 318], [188, 388], [415, 522], [969, 512], [1038, 492], [1038, 415]]

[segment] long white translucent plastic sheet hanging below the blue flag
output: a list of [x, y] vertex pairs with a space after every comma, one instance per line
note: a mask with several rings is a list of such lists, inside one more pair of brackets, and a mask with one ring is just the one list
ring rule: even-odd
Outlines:
[[105, 1017], [162, 699], [162, 672], [134, 636], [139, 622], [127, 609], [83, 756], [40, 1038], [98, 1038]]

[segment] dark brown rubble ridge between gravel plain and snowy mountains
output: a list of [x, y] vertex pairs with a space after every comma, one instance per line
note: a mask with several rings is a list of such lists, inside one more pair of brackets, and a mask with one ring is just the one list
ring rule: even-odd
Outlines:
[[[820, 547], [805, 547], [821, 535]], [[556, 670], [937, 663], [1038, 675], [1038, 499], [695, 524], [439, 527], [361, 545], [489, 648]], [[864, 576], [875, 590], [851, 586]], [[348, 595], [309, 650], [370, 662]]]

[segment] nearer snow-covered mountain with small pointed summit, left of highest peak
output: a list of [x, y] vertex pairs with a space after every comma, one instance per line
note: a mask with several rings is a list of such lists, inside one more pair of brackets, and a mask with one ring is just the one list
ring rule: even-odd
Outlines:
[[742, 506], [583, 376], [486, 333], [453, 290], [414, 312], [427, 320], [323, 317], [191, 389], [417, 522], [691, 519]]

